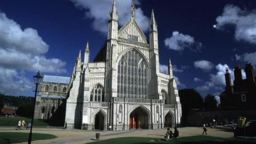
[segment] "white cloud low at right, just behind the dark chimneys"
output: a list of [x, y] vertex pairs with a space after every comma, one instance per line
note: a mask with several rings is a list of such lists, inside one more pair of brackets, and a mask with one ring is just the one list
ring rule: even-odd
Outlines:
[[[199, 91], [206, 91], [211, 88], [214, 88], [215, 90], [224, 90], [224, 87], [226, 86], [225, 81], [225, 74], [226, 69], [228, 69], [231, 77], [231, 83], [233, 83], [235, 76], [233, 73], [233, 69], [230, 69], [228, 65], [224, 64], [218, 64], [215, 66], [215, 69], [217, 70], [217, 74], [210, 74], [210, 81], [205, 82], [204, 85], [196, 87]], [[242, 69], [242, 77], [245, 78], [245, 71]]]

